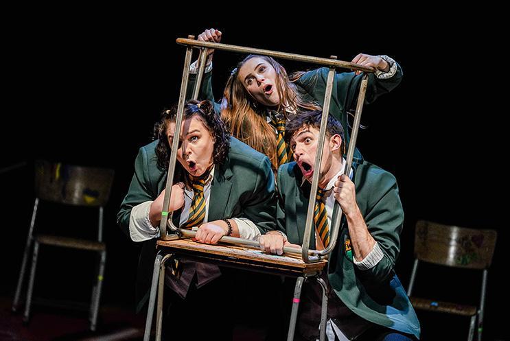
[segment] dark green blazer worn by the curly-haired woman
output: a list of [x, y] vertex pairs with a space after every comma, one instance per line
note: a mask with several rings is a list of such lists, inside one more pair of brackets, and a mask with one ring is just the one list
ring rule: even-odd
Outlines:
[[[157, 167], [154, 141], [138, 152], [135, 174], [120, 210], [117, 224], [129, 234], [129, 219], [132, 207], [146, 201], [153, 201], [165, 189], [167, 171]], [[231, 137], [227, 160], [216, 165], [211, 183], [208, 221], [232, 217], [246, 217], [262, 234], [276, 227], [275, 178], [269, 158], [241, 141]], [[180, 212], [173, 215], [178, 225]], [[137, 309], [141, 309], [148, 298], [152, 268], [156, 256], [156, 239], [141, 242], [137, 274]]]

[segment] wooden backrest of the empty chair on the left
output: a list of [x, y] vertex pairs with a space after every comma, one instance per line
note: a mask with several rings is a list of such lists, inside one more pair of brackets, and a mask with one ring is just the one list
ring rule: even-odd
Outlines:
[[110, 197], [113, 175], [113, 169], [36, 161], [36, 196], [61, 204], [102, 207]]

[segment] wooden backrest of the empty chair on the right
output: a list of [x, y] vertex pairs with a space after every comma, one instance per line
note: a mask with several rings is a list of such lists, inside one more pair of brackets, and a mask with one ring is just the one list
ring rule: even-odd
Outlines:
[[494, 230], [478, 230], [420, 220], [415, 229], [415, 257], [455, 268], [489, 268], [494, 255]]

